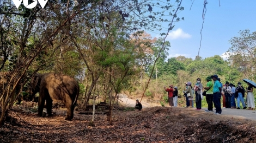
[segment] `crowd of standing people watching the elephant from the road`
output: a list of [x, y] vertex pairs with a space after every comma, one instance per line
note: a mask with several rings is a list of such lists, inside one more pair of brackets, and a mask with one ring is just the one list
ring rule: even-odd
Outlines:
[[[223, 108], [236, 108], [240, 109], [240, 102], [242, 103], [242, 109], [253, 110], [255, 108], [253, 85], [247, 82], [248, 87], [245, 89], [241, 82], [237, 83], [237, 87], [232, 83], [225, 82], [225, 85], [221, 83], [221, 79], [218, 75], [208, 76], [205, 79], [207, 84], [203, 87], [201, 79], [198, 78], [197, 82], [192, 87], [191, 82], [186, 82], [186, 89], [183, 91], [186, 97], [186, 108], [193, 108], [194, 99], [196, 102], [196, 110], [202, 109], [202, 96], [206, 98], [208, 109], [205, 112], [214, 112], [219, 115], [222, 113], [221, 98], [223, 100]], [[170, 85], [169, 88], [163, 87], [168, 92], [169, 106], [177, 107], [178, 105], [178, 87]], [[246, 101], [244, 101], [245, 94], [247, 92]], [[236, 102], [235, 102], [236, 99]], [[248, 106], [248, 107], [247, 107]]]

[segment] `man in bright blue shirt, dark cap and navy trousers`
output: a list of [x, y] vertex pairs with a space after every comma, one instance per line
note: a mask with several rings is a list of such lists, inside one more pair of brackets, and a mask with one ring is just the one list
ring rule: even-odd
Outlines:
[[211, 79], [214, 80], [214, 106], [216, 108], [216, 115], [220, 115], [221, 110], [221, 83], [218, 81], [218, 75], [212, 75]]

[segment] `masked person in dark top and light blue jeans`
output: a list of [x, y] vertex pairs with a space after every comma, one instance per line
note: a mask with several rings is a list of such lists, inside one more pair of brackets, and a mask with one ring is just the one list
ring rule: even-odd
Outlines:
[[238, 82], [237, 87], [235, 89], [235, 97], [237, 101], [237, 108], [240, 109], [240, 101], [242, 102], [243, 109], [246, 109], [247, 107], [245, 106], [245, 101], [243, 98], [245, 97], [245, 88], [242, 87], [242, 83]]

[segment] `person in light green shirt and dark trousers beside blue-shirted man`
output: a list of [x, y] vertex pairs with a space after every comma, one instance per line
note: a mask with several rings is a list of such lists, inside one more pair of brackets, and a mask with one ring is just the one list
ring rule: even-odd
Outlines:
[[205, 98], [206, 98], [206, 102], [208, 104], [208, 109], [205, 110], [205, 112], [214, 112], [212, 110], [212, 108], [213, 108], [212, 101], [214, 99], [214, 96], [213, 96], [214, 83], [212, 83], [210, 76], [206, 77], [205, 80], [207, 81], [207, 85], [206, 85], [206, 87], [204, 87], [204, 89], [207, 89]]

